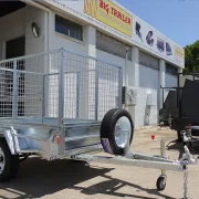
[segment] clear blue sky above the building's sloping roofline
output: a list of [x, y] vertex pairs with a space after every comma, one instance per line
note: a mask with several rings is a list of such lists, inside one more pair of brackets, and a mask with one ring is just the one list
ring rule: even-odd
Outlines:
[[199, 40], [199, 0], [116, 0], [180, 46]]

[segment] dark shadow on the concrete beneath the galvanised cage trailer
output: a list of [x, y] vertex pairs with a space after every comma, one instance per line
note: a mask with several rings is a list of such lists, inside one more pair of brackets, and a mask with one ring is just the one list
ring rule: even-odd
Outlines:
[[[35, 199], [45, 195], [53, 195], [63, 189], [74, 189], [84, 195], [102, 193], [142, 199], [158, 199], [159, 197], [175, 199], [164, 196], [157, 190], [145, 189], [136, 184], [112, 178], [107, 175], [111, 170], [113, 168], [86, 167], [83, 161], [56, 160], [49, 163], [38, 158], [30, 158], [20, 165], [19, 172], [12, 181], [0, 185], [0, 198], [9, 199], [10, 197], [7, 196], [12, 195], [17, 199]], [[98, 176], [105, 180], [87, 188], [77, 187], [78, 184]], [[132, 187], [137, 192], [146, 191], [151, 197], [140, 197], [139, 193], [137, 196], [122, 193], [119, 189], [124, 186]]]

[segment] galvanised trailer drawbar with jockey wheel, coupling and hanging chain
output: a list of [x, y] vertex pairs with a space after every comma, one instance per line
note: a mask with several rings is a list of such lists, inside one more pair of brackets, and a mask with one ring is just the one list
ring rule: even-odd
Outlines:
[[161, 175], [157, 179], [156, 187], [158, 191], [163, 191], [166, 188], [167, 175], [166, 170], [184, 171], [184, 199], [190, 199], [188, 197], [188, 165], [197, 165], [198, 158], [195, 158], [187, 146], [184, 146], [185, 154], [179, 160], [168, 159], [165, 155], [165, 140], [160, 142], [160, 156], [149, 156], [140, 153], [128, 153], [125, 157], [115, 156], [96, 156], [96, 155], [74, 155], [71, 158], [75, 160], [100, 164], [112, 164], [130, 167], [143, 167], [160, 169]]

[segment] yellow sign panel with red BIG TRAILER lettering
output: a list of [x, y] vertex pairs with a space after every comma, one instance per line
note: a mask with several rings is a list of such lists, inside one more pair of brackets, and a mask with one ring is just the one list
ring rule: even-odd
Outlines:
[[130, 38], [133, 36], [133, 15], [111, 0], [84, 0], [84, 13]]

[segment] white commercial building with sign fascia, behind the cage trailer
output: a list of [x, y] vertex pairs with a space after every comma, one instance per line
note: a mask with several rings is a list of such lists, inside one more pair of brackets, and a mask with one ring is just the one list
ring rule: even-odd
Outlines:
[[111, 0], [23, 0], [1, 9], [0, 60], [65, 48], [122, 65], [124, 86], [136, 93], [136, 103], [124, 105], [135, 126], [157, 124], [160, 86], [176, 86], [185, 66], [174, 41]]

